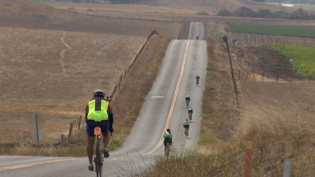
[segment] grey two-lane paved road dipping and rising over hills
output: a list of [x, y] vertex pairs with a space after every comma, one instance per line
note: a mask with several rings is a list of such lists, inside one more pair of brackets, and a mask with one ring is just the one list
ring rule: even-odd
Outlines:
[[[200, 22], [192, 22], [191, 29], [203, 32]], [[188, 39], [194, 39], [194, 37], [190, 37], [194, 35], [194, 32], [190, 32]], [[117, 176], [116, 173], [126, 173], [122, 169], [128, 169], [128, 166], [131, 169], [129, 159], [132, 159], [139, 168], [139, 166], [144, 167], [145, 163], [153, 162], [155, 155], [163, 155], [162, 135], [166, 128], [171, 129], [175, 147], [180, 147], [183, 142], [186, 143], [186, 146], [196, 145], [200, 127], [198, 115], [201, 113], [207, 66], [207, 44], [201, 39], [203, 39], [203, 34], [199, 33], [198, 41], [171, 41], [158, 76], [146, 97], [131, 134], [122, 148], [110, 152], [110, 157], [105, 160], [103, 176]], [[197, 74], [201, 77], [199, 87], [195, 83]], [[184, 134], [182, 125], [188, 117], [185, 105], [187, 94], [191, 96], [190, 106], [194, 110], [188, 138]], [[127, 154], [129, 158], [127, 158]], [[95, 172], [87, 170], [87, 157], [0, 156], [0, 162], [1, 177], [95, 176]]]

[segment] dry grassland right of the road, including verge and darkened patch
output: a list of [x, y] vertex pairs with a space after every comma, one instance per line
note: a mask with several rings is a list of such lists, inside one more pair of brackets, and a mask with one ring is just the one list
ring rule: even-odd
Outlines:
[[285, 158], [292, 159], [292, 176], [314, 176], [314, 81], [295, 77], [289, 59], [268, 47], [230, 44], [235, 70], [294, 77], [236, 80], [238, 108], [225, 43], [208, 44], [199, 150], [216, 152], [242, 176], [245, 138], [253, 138], [252, 176], [281, 176]]

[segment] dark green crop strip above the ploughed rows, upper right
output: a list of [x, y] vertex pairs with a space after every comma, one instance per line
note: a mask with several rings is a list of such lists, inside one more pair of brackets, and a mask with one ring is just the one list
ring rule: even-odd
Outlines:
[[315, 38], [315, 26], [262, 25], [252, 23], [230, 23], [228, 26], [230, 26], [231, 32]]

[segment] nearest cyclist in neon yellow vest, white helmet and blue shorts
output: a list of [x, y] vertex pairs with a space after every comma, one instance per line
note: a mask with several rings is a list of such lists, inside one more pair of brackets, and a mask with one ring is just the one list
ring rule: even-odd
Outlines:
[[89, 170], [93, 171], [93, 146], [95, 141], [94, 128], [99, 126], [103, 134], [103, 154], [105, 158], [109, 157], [108, 143], [109, 132], [114, 132], [113, 128], [113, 110], [110, 102], [104, 96], [103, 90], [97, 89], [93, 94], [92, 100], [89, 100], [85, 106], [86, 131], [88, 133], [88, 146], [86, 147], [89, 157]]

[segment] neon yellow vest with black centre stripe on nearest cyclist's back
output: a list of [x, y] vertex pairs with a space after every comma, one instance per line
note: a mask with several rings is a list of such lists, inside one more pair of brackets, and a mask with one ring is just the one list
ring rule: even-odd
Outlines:
[[108, 120], [107, 108], [108, 102], [105, 100], [97, 97], [93, 100], [90, 100], [88, 120], [94, 120], [95, 122]]

